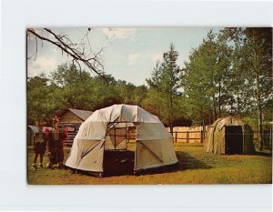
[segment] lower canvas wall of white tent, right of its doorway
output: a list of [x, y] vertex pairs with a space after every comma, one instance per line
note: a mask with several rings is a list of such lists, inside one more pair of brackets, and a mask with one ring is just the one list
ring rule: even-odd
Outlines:
[[171, 138], [147, 141], [136, 140], [135, 170], [161, 167], [177, 162], [177, 155]]

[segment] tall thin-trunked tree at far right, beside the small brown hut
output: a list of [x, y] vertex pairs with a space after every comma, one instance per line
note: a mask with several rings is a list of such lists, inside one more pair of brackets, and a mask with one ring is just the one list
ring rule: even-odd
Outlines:
[[258, 142], [263, 148], [263, 108], [272, 106], [272, 28], [225, 28], [223, 32], [238, 47], [241, 66], [248, 81], [254, 82], [258, 111]]

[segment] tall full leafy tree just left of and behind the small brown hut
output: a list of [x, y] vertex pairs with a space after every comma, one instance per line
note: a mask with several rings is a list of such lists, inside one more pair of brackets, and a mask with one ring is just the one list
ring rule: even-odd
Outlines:
[[188, 115], [194, 122], [207, 122], [207, 118], [210, 122], [210, 113], [213, 121], [221, 116], [227, 101], [223, 96], [227, 96], [225, 84], [230, 68], [229, 55], [225, 40], [210, 30], [203, 43], [191, 52], [189, 62], [185, 63], [181, 83], [187, 96]]

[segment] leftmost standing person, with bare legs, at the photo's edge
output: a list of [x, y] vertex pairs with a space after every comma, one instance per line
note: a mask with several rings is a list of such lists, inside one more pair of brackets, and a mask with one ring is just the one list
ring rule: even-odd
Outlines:
[[38, 164], [39, 167], [43, 167], [43, 157], [45, 155], [46, 149], [46, 140], [45, 140], [45, 133], [43, 132], [44, 122], [36, 122], [38, 132], [35, 133], [35, 140], [34, 140], [34, 150], [35, 150], [35, 159], [32, 165], [32, 168], [36, 167], [37, 157], [40, 156], [40, 163]]

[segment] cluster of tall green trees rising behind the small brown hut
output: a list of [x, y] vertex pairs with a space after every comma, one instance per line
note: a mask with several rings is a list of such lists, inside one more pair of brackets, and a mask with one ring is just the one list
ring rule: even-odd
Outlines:
[[211, 123], [227, 115], [253, 117], [256, 108], [258, 119], [271, 119], [271, 28], [209, 31], [185, 66], [181, 84], [187, 116], [194, 122]]

